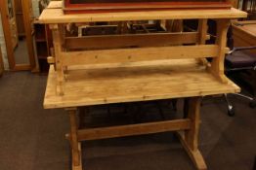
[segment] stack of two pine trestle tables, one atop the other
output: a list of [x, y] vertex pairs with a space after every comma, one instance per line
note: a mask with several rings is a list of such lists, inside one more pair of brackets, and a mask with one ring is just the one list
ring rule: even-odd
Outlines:
[[[80, 143], [84, 140], [163, 131], [179, 131], [180, 140], [195, 167], [207, 169], [198, 151], [200, 98], [239, 91], [239, 87], [224, 75], [227, 31], [231, 19], [237, 17], [246, 17], [246, 13], [230, 9], [64, 15], [62, 4], [58, 8], [57, 2], [50, 3], [39, 18], [40, 22], [50, 24], [55, 48], [54, 55], [48, 59], [53, 65], [49, 71], [44, 107], [65, 108], [69, 114], [71, 128], [66, 138], [72, 149], [73, 170], [82, 170]], [[70, 22], [185, 18], [199, 19], [197, 32], [96, 36], [76, 40], [64, 37], [64, 24]], [[208, 18], [216, 19], [218, 25], [214, 45], [205, 45]], [[139, 48], [127, 48], [134, 45]], [[93, 46], [110, 49], [68, 51], [68, 48], [90, 49]], [[205, 60], [209, 56], [213, 58], [211, 63]], [[77, 108], [81, 106], [179, 97], [189, 98], [185, 119], [78, 129]]]

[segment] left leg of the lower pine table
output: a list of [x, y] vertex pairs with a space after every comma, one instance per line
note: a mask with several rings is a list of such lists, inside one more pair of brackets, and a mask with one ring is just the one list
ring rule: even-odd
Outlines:
[[70, 118], [70, 145], [72, 149], [72, 170], [82, 170], [81, 144], [77, 140], [77, 111], [67, 109]]

